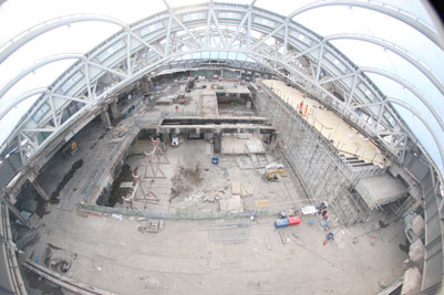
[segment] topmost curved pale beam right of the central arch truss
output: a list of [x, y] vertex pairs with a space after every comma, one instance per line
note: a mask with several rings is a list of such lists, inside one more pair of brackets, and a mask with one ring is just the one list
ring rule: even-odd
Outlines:
[[386, 14], [389, 17], [392, 17], [399, 21], [404, 22], [405, 24], [412, 27], [413, 29], [417, 30], [421, 32], [423, 35], [425, 35], [428, 40], [431, 40], [433, 43], [435, 43], [438, 48], [444, 50], [444, 44], [440, 40], [440, 36], [436, 32], [433, 31], [428, 25], [425, 23], [419, 21], [419, 19], [406, 11], [403, 11], [399, 8], [394, 8], [388, 4], [382, 4], [382, 3], [376, 3], [376, 2], [361, 2], [361, 1], [318, 1], [314, 3], [307, 4], [304, 7], [299, 8], [298, 10], [291, 12], [287, 19], [293, 19], [296, 15], [301, 14], [306, 11], [317, 9], [317, 8], [322, 8], [322, 7], [339, 7], [339, 6], [345, 6], [345, 7], [359, 7], [359, 8], [364, 8], [364, 9], [370, 9], [383, 14]]

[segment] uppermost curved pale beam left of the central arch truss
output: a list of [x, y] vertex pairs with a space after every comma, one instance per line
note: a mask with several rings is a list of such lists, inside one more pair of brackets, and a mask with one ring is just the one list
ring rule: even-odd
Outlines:
[[85, 21], [100, 21], [100, 22], [109, 22], [116, 25], [120, 25], [124, 29], [128, 29], [130, 25], [114, 18], [100, 15], [100, 14], [71, 14], [64, 15], [60, 18], [55, 18], [42, 23], [39, 23], [20, 34], [16, 35], [8, 42], [1, 45], [0, 48], [0, 64], [4, 62], [12, 53], [14, 53], [18, 49], [30, 42], [31, 40], [38, 38], [41, 34], [44, 34], [53, 29], [75, 23], [75, 22], [85, 22]]

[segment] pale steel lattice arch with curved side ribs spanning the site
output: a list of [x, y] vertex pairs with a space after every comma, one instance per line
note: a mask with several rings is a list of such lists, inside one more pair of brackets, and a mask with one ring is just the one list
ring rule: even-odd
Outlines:
[[[62, 25], [101, 21], [117, 24], [122, 30], [85, 54], [83, 59], [75, 54], [49, 56], [20, 73], [1, 88], [0, 95], [4, 96], [24, 75], [40, 66], [69, 59], [70, 56], [80, 59], [62, 77], [59, 77], [52, 85], [47, 85], [50, 92], [47, 92], [34, 103], [33, 107], [28, 112], [28, 116], [23, 117], [18, 128], [11, 133], [6, 144], [2, 145], [1, 151], [3, 154], [7, 152], [13, 143], [18, 143], [18, 140], [22, 143], [22, 138], [27, 138], [27, 152], [22, 155], [24, 164], [27, 158], [38, 152], [45, 143], [56, 136], [61, 129], [69, 126], [70, 123], [65, 123], [66, 118], [62, 119], [62, 113], [71, 102], [81, 103], [82, 107], [79, 112], [85, 112], [100, 99], [146, 75], [155, 70], [156, 66], [177, 59], [194, 59], [193, 55], [198, 56], [198, 53], [203, 59], [206, 55], [209, 57], [209, 52], [213, 55], [215, 52], [226, 52], [227, 57], [228, 53], [231, 56], [233, 53], [241, 54], [240, 56], [246, 61], [259, 62], [278, 72], [277, 64], [279, 64], [287, 73], [290, 73], [287, 74], [287, 78], [304, 84], [306, 88], [313, 87], [313, 89], [322, 93], [323, 96], [333, 99], [337, 107], [350, 116], [353, 116], [353, 112], [348, 109], [350, 105], [364, 105], [374, 103], [374, 101], [381, 102], [384, 98], [384, 94], [362, 73], [366, 71], [389, 77], [409, 89], [424, 104], [433, 115], [435, 124], [438, 125], [440, 130], [436, 133], [443, 134], [443, 120], [433, 105], [427, 102], [425, 95], [402, 77], [397, 77], [396, 74], [378, 69], [371, 70], [358, 66], [333, 46], [331, 41], [339, 39], [363, 41], [392, 51], [424, 74], [442, 95], [444, 93], [442, 82], [417, 56], [378, 36], [344, 33], [323, 38], [295, 22], [295, 19], [306, 11], [330, 6], [360, 7], [390, 15], [414, 28], [432, 40], [435, 45], [440, 45], [437, 33], [430, 25], [416, 21], [417, 18], [406, 11], [396, 10], [394, 7], [386, 4], [382, 6], [379, 2], [318, 1], [298, 8], [288, 15], [277, 15], [256, 8], [255, 2], [247, 6], [209, 2], [202, 6], [174, 9], [167, 4], [168, 10], [131, 25], [103, 15], [65, 15], [34, 25], [4, 43], [0, 52], [0, 62], [3, 62], [31, 40]], [[142, 54], [149, 56], [149, 65], [142, 66], [137, 64], [138, 61], [134, 57], [138, 57]], [[300, 59], [309, 60], [310, 65], [308, 69], [301, 70], [297, 66]], [[134, 71], [134, 69], [140, 70]], [[310, 72], [313, 69], [316, 71], [307, 74], [307, 71]], [[113, 75], [115, 80], [118, 80], [118, 83], [115, 83], [106, 92], [97, 93], [94, 85], [100, 83], [100, 78], [105, 74]], [[282, 71], [279, 74], [283, 75]], [[337, 87], [348, 93], [348, 101], [341, 102], [326, 89], [322, 86], [324, 84], [322, 80], [334, 83]], [[9, 102], [1, 112], [2, 117], [8, 110], [23, 101], [23, 95], [20, 96], [21, 99], [11, 99]], [[399, 146], [400, 140], [404, 140], [407, 134], [411, 137], [414, 137], [414, 134], [412, 134], [409, 126], [401, 122], [402, 118], [396, 109], [390, 103], [385, 103], [382, 112], [374, 112], [370, 107], [365, 110], [372, 119], [370, 124], [369, 122], [362, 122], [362, 128], [373, 137], [379, 136], [380, 129], [383, 133], [396, 130], [396, 134], [392, 136], [393, 138], [390, 138], [391, 143], [384, 143], [384, 140], [382, 143], [393, 156], [402, 158], [403, 149], [393, 149], [393, 146]], [[41, 120], [39, 119], [35, 123], [35, 118], [40, 116], [40, 113], [45, 114], [42, 114]], [[32, 119], [32, 116], [34, 116], [34, 119]], [[71, 122], [71, 119], [73, 118], [68, 120]], [[355, 119], [359, 120], [359, 118]], [[44, 137], [44, 140], [39, 139], [42, 137]], [[386, 137], [384, 136], [384, 138]], [[443, 152], [442, 150], [438, 151], [442, 161]], [[440, 167], [441, 169], [438, 168], [438, 170], [442, 170], [441, 164]]]

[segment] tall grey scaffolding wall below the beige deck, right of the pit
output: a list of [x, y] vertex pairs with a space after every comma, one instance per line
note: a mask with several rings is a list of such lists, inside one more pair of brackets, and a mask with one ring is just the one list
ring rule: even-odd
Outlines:
[[370, 209], [353, 193], [354, 185], [361, 177], [380, 175], [385, 169], [373, 165], [354, 167], [293, 106], [264, 83], [258, 84], [262, 91], [255, 93], [255, 107], [279, 130], [282, 154], [302, 180], [308, 196], [328, 200], [344, 225], [363, 220]]

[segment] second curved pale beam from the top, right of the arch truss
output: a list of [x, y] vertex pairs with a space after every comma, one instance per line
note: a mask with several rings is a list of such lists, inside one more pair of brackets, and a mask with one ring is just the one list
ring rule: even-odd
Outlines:
[[383, 49], [390, 50], [391, 52], [400, 55], [403, 57], [405, 61], [411, 63], [414, 67], [416, 67], [421, 73], [423, 73], [435, 87], [441, 92], [442, 95], [444, 95], [444, 85], [442, 82], [432, 73], [432, 71], [426, 67], [419, 59], [416, 59], [413, 54], [407, 52], [406, 50], [397, 46], [394, 43], [391, 43], [389, 41], [385, 41], [381, 38], [376, 36], [371, 36], [371, 35], [364, 35], [364, 34], [334, 34], [334, 35], [329, 35], [324, 38], [324, 41], [331, 41], [331, 40], [359, 40], [363, 42], [369, 42], [375, 45], [379, 45]]

